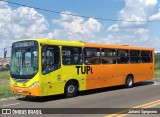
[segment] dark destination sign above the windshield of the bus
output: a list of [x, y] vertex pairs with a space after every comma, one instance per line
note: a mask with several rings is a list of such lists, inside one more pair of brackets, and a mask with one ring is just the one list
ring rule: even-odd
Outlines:
[[36, 41], [20, 41], [13, 43], [13, 48], [19, 48], [19, 47], [32, 47], [37, 46], [38, 43]]

